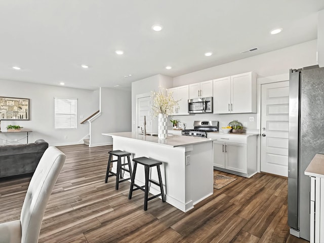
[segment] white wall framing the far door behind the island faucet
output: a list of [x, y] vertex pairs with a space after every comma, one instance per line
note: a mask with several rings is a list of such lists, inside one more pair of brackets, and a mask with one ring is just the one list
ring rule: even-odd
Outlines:
[[151, 94], [151, 91], [157, 91], [159, 86], [168, 89], [172, 85], [173, 78], [162, 74], [157, 74], [132, 83], [132, 132], [137, 131], [136, 96], [146, 93]]

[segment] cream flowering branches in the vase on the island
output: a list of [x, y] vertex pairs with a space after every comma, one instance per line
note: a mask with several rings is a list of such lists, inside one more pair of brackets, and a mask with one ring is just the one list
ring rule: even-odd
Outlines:
[[172, 92], [158, 87], [158, 92], [154, 91], [151, 93], [151, 98], [153, 98], [153, 104], [151, 105], [153, 117], [156, 117], [159, 113], [172, 115], [175, 112], [175, 108], [179, 108], [179, 100], [175, 101], [173, 99]]

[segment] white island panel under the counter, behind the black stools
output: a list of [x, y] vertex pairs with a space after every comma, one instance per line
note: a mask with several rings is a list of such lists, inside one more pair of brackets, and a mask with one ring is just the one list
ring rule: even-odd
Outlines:
[[[113, 149], [128, 151], [132, 153], [132, 158], [145, 156], [163, 162], [161, 174], [167, 202], [183, 212], [192, 208], [192, 200], [186, 200], [185, 147], [164, 146], [136, 139], [113, 136]], [[152, 179], [157, 181], [156, 170], [153, 169], [152, 171]], [[144, 168], [139, 165], [135, 179], [139, 185], [144, 185], [144, 178]], [[152, 184], [150, 193], [159, 193], [158, 187]]]

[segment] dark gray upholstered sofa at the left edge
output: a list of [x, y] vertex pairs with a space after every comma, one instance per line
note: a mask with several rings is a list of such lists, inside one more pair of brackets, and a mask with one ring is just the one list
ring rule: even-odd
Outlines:
[[49, 144], [34, 143], [0, 146], [0, 177], [33, 173]]

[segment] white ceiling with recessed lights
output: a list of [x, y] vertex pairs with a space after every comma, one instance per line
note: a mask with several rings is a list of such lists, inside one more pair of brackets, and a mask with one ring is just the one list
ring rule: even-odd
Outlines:
[[[131, 87], [316, 39], [322, 9], [322, 0], [2, 0], [0, 79]], [[275, 27], [284, 30], [270, 35]]]

